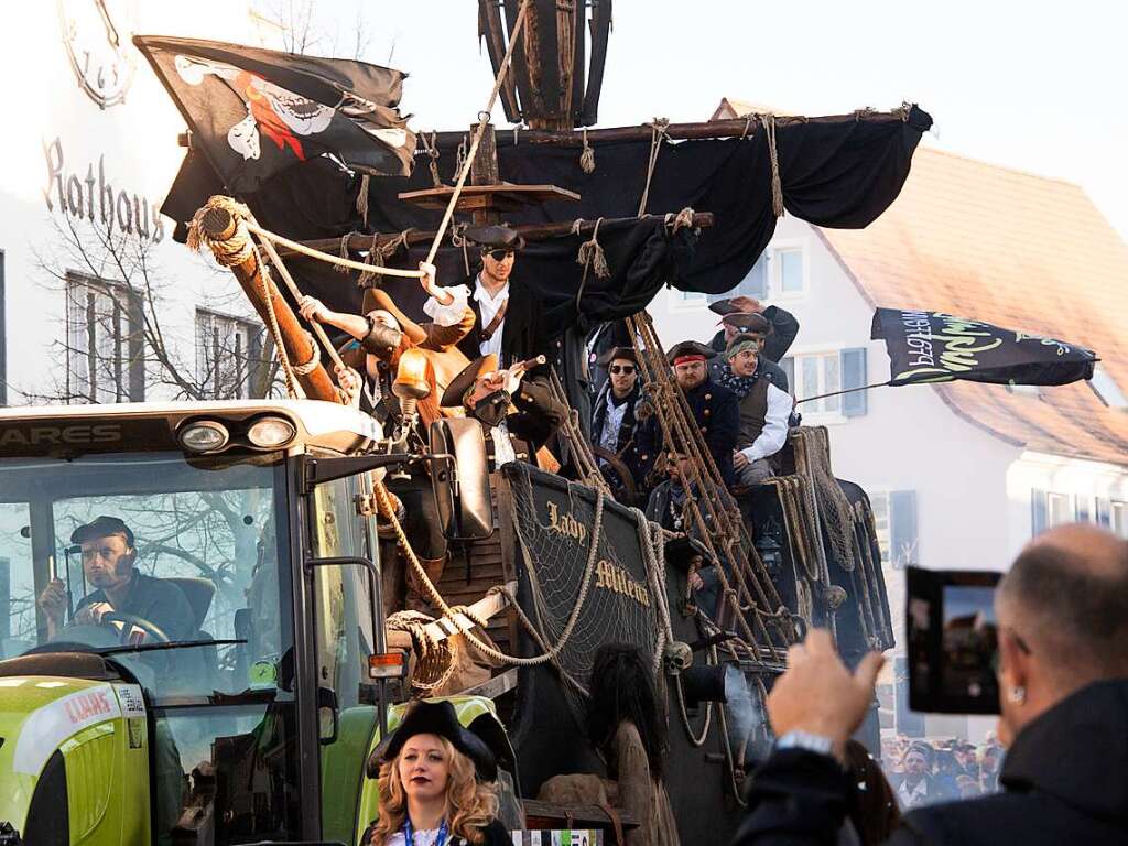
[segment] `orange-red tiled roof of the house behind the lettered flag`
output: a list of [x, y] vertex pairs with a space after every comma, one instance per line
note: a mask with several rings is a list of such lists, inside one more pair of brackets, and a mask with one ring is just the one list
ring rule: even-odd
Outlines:
[[[874, 307], [948, 311], [1087, 346], [1128, 394], [1128, 245], [1076, 185], [919, 148], [875, 222], [817, 231]], [[1011, 443], [1128, 465], [1128, 412], [1087, 382], [1039, 397], [976, 382], [934, 389]]]

